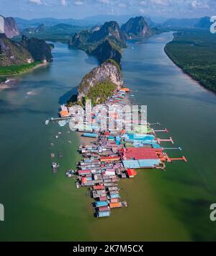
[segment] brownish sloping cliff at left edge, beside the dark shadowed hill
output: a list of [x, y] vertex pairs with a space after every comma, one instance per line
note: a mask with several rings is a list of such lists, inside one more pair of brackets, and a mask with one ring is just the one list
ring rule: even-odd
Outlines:
[[4, 34], [0, 36], [0, 66], [12, 66], [33, 62], [31, 53], [19, 43], [6, 38]]

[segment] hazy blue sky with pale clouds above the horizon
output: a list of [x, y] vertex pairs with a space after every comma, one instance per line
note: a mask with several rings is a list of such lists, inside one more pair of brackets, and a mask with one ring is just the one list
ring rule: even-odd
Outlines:
[[99, 14], [142, 14], [150, 17], [216, 15], [215, 0], [0, 0], [5, 17], [83, 18]]

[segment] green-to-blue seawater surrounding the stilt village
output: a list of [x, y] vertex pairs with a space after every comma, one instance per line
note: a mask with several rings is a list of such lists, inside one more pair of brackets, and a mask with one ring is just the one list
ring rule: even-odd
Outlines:
[[[76, 133], [68, 133], [68, 126], [43, 125], [96, 60], [57, 43], [53, 63], [0, 92], [0, 203], [5, 207], [0, 240], [216, 239], [216, 222], [210, 221], [210, 205], [216, 203], [216, 97], [166, 56], [163, 48], [172, 37], [130, 41], [122, 71], [132, 102], [148, 105], [148, 121], [170, 130], [159, 136], [171, 136], [183, 149], [168, 155], [184, 155], [188, 162], [167, 164], [166, 172], [139, 170], [134, 180], [122, 180], [128, 207], [112, 211], [108, 219], [94, 219], [87, 190], [77, 190], [65, 177], [79, 159]], [[50, 169], [50, 153], [60, 163], [57, 175]]]

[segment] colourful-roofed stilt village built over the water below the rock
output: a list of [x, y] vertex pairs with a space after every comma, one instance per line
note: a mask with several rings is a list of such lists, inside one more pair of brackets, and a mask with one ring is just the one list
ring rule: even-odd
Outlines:
[[[78, 131], [84, 138], [92, 138], [91, 143], [79, 146], [79, 152], [82, 155], [81, 161], [77, 163], [76, 170], [68, 170], [67, 177], [76, 177], [76, 187], [87, 187], [91, 198], [94, 198], [92, 206], [94, 216], [97, 218], [108, 217], [114, 208], [127, 207], [127, 202], [121, 200], [120, 188], [118, 182], [120, 179], [132, 179], [142, 172], [143, 169], [158, 169], [164, 171], [166, 163], [174, 161], [187, 162], [184, 156], [171, 158], [166, 153], [168, 150], [180, 150], [180, 147], [164, 148], [163, 142], [174, 144], [173, 139], [160, 139], [156, 134], [164, 132], [167, 129], [156, 129], [160, 123], [146, 123], [145, 133], [143, 133], [143, 124], [140, 124], [140, 115], [142, 110], [138, 111], [138, 119], [133, 120], [132, 129], [127, 131], [126, 123], [131, 123], [131, 118], [127, 118], [127, 112], [118, 116], [117, 112], [107, 111], [107, 119], [114, 120], [115, 128], [118, 120], [123, 122], [123, 128], [109, 129], [101, 128], [101, 119], [104, 113], [102, 107], [109, 108], [113, 105], [125, 105], [124, 99], [130, 89], [121, 88], [114, 92], [106, 102], [94, 107], [91, 112], [91, 126], [79, 127], [73, 129]], [[51, 118], [51, 121], [58, 121], [60, 126], [66, 125], [69, 120], [78, 122], [73, 115], [70, 107], [61, 106], [60, 118]], [[50, 120], [47, 120], [48, 124]], [[124, 123], [125, 120], [125, 123]], [[88, 140], [89, 141], [89, 140]], [[53, 171], [56, 172], [59, 165], [53, 162]]]

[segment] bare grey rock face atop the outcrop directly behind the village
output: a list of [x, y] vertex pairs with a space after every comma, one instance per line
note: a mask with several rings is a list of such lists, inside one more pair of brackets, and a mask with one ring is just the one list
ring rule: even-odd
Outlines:
[[89, 74], [84, 76], [78, 87], [78, 100], [88, 95], [90, 89], [96, 84], [110, 81], [116, 85], [117, 89], [122, 87], [123, 79], [120, 66], [115, 61], [107, 60], [102, 65], [93, 69]]

